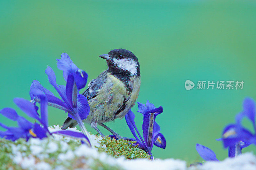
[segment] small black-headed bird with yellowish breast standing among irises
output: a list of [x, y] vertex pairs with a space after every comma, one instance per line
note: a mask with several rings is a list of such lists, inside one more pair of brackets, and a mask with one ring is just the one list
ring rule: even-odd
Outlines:
[[[100, 55], [107, 61], [108, 69], [90, 81], [83, 92], [90, 105], [90, 114], [83, 121], [91, 124], [101, 136], [97, 124], [120, 137], [103, 123], [122, 119], [135, 104], [140, 92], [140, 64], [137, 57], [126, 49], [113, 49]], [[75, 127], [77, 122], [67, 118], [62, 129]]]

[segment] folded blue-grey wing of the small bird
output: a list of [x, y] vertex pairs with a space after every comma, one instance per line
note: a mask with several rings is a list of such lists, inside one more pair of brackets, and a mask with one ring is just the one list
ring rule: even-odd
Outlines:
[[94, 98], [98, 92], [98, 90], [103, 86], [107, 78], [107, 70], [100, 73], [100, 75], [90, 81], [88, 88], [83, 92], [83, 95], [87, 100]]

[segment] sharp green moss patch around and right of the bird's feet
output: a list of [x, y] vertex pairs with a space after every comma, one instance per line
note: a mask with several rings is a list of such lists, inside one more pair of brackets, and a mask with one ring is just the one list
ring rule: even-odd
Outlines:
[[[111, 137], [103, 137], [100, 141], [100, 147], [97, 147], [99, 152], [106, 152], [108, 155], [112, 155], [115, 158], [124, 155], [126, 159], [147, 158], [150, 159], [150, 155], [147, 152], [138, 149], [137, 146], [132, 146], [131, 143], [136, 141], [116, 140]], [[106, 148], [104, 147], [106, 146]]]

